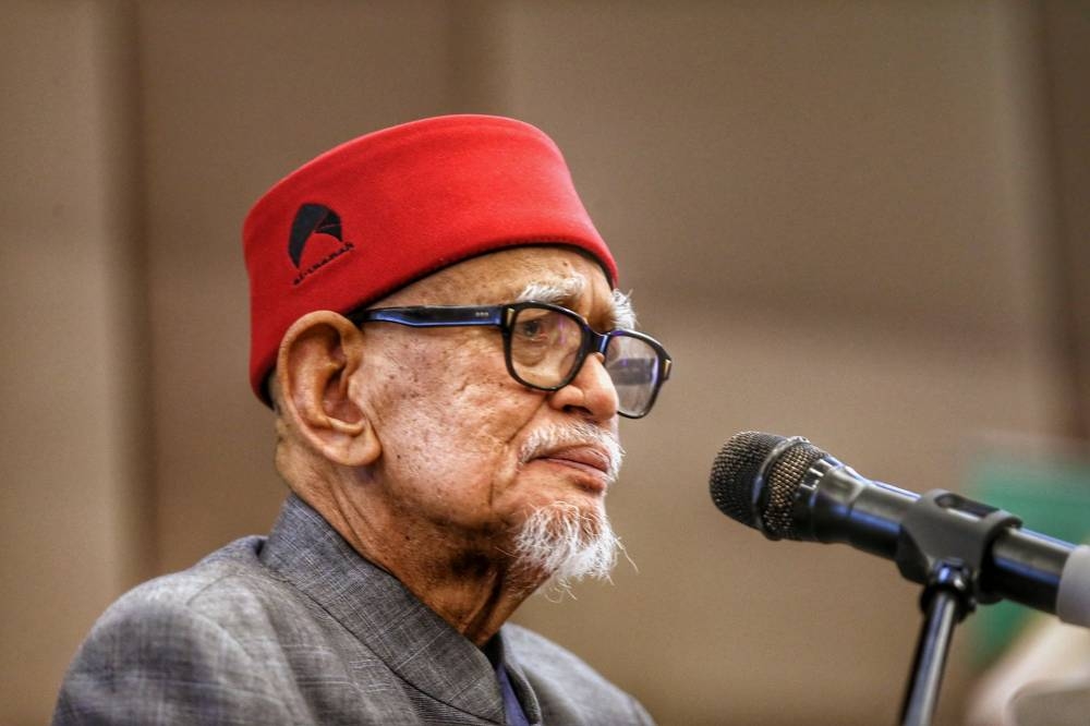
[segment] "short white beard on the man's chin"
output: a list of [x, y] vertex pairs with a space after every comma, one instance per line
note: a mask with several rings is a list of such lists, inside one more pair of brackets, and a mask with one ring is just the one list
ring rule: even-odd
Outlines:
[[562, 597], [583, 578], [609, 580], [617, 554], [625, 548], [605, 511], [585, 515], [567, 501], [534, 510], [514, 537], [516, 577], [546, 596]]

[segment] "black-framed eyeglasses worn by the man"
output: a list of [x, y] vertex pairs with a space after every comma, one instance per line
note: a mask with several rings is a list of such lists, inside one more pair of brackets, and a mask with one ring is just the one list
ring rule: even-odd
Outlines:
[[617, 389], [617, 411], [645, 416], [670, 377], [666, 349], [635, 330], [597, 332], [578, 313], [536, 301], [505, 305], [421, 305], [378, 307], [349, 313], [355, 325], [397, 323], [414, 328], [494, 325], [504, 335], [504, 356], [511, 377], [538, 390], [559, 390], [579, 374], [591, 353], [602, 353]]

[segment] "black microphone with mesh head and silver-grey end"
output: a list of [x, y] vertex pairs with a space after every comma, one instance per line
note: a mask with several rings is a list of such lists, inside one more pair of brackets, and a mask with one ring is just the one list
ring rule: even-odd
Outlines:
[[843, 542], [895, 560], [915, 582], [928, 581], [930, 552], [977, 543], [979, 602], [1007, 598], [1090, 626], [1090, 546], [1022, 530], [994, 507], [941, 489], [921, 497], [860, 476], [801, 436], [760, 432], [723, 446], [710, 484], [723, 513], [770, 540]]

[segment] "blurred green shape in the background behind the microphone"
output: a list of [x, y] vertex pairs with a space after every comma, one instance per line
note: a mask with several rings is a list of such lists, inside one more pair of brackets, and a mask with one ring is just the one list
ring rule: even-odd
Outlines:
[[[1090, 463], [993, 456], [972, 467], [966, 492], [1017, 515], [1027, 530], [1073, 543], [1090, 539]], [[1009, 602], [978, 607], [967, 622], [973, 665], [995, 660], [1034, 612]]]

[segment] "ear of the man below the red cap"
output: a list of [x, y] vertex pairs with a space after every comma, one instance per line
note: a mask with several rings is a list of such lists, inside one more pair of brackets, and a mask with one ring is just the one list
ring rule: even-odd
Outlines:
[[323, 310], [295, 320], [277, 355], [280, 415], [325, 458], [346, 467], [372, 463], [382, 451], [371, 421], [349, 390], [363, 348], [356, 326]]

